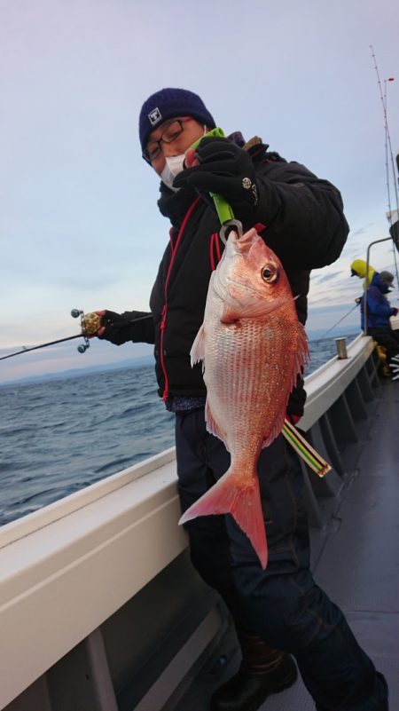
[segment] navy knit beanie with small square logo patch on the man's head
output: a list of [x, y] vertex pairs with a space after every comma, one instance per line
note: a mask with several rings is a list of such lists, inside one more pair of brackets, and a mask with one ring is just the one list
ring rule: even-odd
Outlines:
[[215, 129], [215, 121], [198, 94], [187, 89], [161, 89], [145, 101], [140, 111], [138, 133], [142, 150], [145, 150], [150, 133], [159, 123], [178, 116], [192, 116], [208, 128]]

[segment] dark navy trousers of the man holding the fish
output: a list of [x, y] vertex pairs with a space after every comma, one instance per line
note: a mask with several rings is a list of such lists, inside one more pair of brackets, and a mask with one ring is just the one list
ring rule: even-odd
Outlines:
[[[230, 454], [205, 426], [204, 409], [176, 414], [182, 510], [229, 468]], [[295, 657], [317, 711], [387, 711], [387, 683], [356, 642], [340, 608], [309, 569], [302, 474], [279, 436], [258, 463], [269, 563], [265, 571], [230, 515], [185, 525], [192, 564], [216, 589], [236, 624]]]

